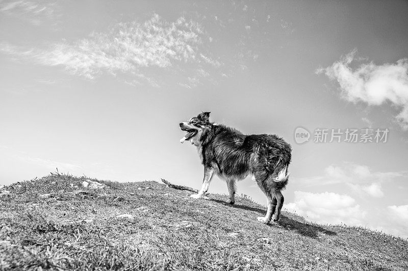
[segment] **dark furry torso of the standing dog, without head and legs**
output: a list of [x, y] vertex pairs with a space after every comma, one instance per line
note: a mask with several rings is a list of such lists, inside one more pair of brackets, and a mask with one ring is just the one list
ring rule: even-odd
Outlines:
[[[291, 161], [291, 146], [276, 135], [244, 135], [236, 129], [223, 125], [205, 135], [202, 145], [203, 163], [215, 166], [223, 176], [253, 174], [264, 182], [269, 176], [278, 177]], [[276, 183], [276, 182], [274, 182]], [[287, 184], [287, 179], [279, 182], [279, 189]]]

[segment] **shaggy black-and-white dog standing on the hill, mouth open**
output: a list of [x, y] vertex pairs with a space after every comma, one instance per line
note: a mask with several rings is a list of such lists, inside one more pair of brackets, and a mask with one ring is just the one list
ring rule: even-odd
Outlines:
[[244, 135], [234, 128], [210, 122], [210, 112], [180, 123], [180, 128], [187, 132], [180, 142], [190, 141], [195, 145], [204, 166], [202, 187], [191, 197], [208, 199], [205, 194], [216, 173], [226, 182], [228, 203], [234, 204], [236, 182], [252, 175], [267, 198], [268, 210], [258, 221], [265, 224], [271, 219], [279, 221], [284, 203], [281, 191], [289, 180], [290, 144], [276, 135]]

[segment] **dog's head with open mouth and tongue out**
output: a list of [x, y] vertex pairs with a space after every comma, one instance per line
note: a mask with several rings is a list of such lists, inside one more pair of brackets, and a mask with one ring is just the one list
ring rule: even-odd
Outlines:
[[191, 140], [191, 144], [198, 145], [202, 133], [206, 129], [211, 129], [210, 112], [202, 112], [197, 116], [192, 117], [187, 122], [180, 123], [180, 129], [186, 131], [187, 134], [180, 139], [180, 142]]

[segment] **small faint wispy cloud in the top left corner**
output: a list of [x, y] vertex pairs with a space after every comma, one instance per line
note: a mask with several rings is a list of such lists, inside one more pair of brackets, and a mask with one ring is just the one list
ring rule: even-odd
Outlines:
[[35, 25], [41, 24], [44, 20], [54, 20], [57, 17], [55, 8], [55, 1], [0, 1], [0, 12], [28, 20]]

